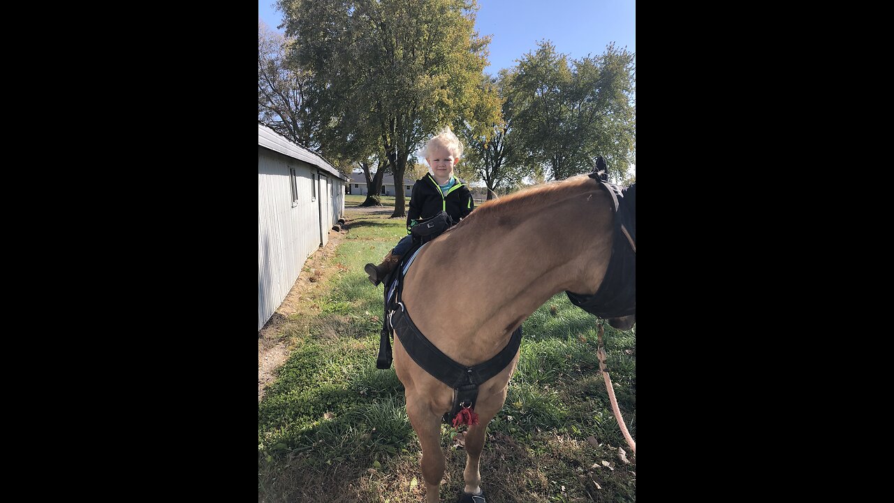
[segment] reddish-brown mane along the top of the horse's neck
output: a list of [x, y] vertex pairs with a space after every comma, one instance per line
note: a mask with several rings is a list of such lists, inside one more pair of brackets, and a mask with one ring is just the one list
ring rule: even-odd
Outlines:
[[443, 234], [450, 233], [458, 228], [468, 226], [469, 222], [481, 223], [484, 220], [496, 219], [501, 225], [506, 225], [510, 220], [514, 220], [513, 216], [518, 216], [519, 211], [538, 207], [547, 202], [557, 200], [558, 197], [568, 197], [578, 192], [594, 191], [598, 187], [590, 182], [590, 178], [586, 175], [575, 176], [566, 180], [540, 183], [519, 192], [511, 193], [500, 199], [485, 201], [481, 206], [477, 207], [468, 217], [452, 226]]

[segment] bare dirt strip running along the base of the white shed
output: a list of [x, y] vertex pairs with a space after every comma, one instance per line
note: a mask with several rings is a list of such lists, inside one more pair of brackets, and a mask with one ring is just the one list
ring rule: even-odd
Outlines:
[[351, 221], [362, 214], [391, 215], [392, 207], [345, 208], [345, 224], [342, 230], [329, 230], [328, 243], [313, 252], [299, 272], [295, 285], [285, 296], [283, 303], [274, 311], [264, 328], [257, 332], [257, 402], [264, 397], [264, 388], [276, 379], [276, 371], [289, 358], [288, 340], [282, 337], [286, 318], [298, 311], [302, 296], [306, 296], [316, 283], [322, 282], [335, 272], [335, 268], [326, 267], [325, 263], [333, 256], [335, 249], [350, 232]]

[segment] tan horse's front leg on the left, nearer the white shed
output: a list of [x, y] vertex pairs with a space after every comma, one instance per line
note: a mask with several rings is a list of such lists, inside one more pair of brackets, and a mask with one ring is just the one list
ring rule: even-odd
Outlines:
[[[415, 399], [414, 399], [415, 398]], [[440, 501], [439, 490], [444, 474], [441, 450], [441, 417], [431, 412], [425, 399], [407, 396], [407, 415], [422, 446], [422, 478], [426, 481], [426, 503]]]

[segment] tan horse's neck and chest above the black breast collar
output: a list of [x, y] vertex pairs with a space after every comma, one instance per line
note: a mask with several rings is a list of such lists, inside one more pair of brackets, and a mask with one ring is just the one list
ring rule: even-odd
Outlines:
[[404, 299], [417, 326], [444, 353], [474, 364], [552, 295], [594, 294], [611, 257], [610, 205], [594, 185], [444, 234], [410, 269]]

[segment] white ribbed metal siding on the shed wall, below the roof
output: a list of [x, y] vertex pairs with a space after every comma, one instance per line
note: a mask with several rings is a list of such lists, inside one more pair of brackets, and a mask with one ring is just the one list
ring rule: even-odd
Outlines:
[[[298, 184], [298, 205], [294, 208], [290, 167], [295, 168]], [[316, 173], [316, 166], [257, 148], [258, 330], [283, 303], [308, 256], [319, 248], [320, 206], [310, 200], [312, 173]]]

